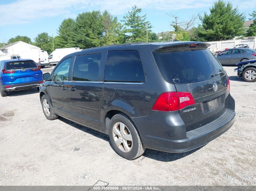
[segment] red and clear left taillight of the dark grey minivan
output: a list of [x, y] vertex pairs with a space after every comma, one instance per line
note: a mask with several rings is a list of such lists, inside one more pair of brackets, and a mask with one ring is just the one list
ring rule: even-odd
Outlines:
[[176, 111], [195, 104], [190, 92], [165, 92], [156, 100], [152, 110]]

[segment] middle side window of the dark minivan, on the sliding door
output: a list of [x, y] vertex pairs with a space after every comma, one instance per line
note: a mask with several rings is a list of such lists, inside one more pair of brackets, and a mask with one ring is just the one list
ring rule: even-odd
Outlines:
[[76, 56], [72, 81], [98, 81], [101, 54]]

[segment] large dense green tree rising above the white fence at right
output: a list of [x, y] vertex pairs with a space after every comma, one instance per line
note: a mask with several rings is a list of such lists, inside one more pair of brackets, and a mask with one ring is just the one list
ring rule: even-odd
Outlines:
[[201, 17], [204, 30], [200, 33], [207, 41], [232, 39], [244, 34], [244, 19], [244, 14], [233, 8], [232, 3], [218, 0], [210, 8], [210, 14], [205, 12]]

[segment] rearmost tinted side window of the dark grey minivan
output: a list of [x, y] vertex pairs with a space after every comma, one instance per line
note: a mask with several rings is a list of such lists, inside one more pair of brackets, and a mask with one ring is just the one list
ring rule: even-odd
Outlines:
[[145, 82], [141, 56], [136, 50], [108, 52], [104, 81]]

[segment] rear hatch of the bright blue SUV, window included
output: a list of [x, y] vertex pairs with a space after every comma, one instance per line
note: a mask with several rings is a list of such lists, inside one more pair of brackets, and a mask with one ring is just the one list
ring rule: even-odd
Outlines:
[[42, 71], [34, 61], [16, 61], [5, 64], [6, 78], [10, 84], [28, 83], [42, 80]]

